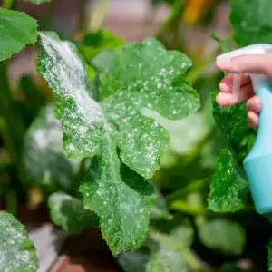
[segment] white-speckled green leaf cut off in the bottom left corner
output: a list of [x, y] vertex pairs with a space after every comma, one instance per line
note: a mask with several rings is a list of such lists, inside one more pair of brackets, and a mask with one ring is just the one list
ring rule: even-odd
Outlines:
[[11, 214], [0, 212], [0, 271], [36, 272], [38, 257], [24, 226]]

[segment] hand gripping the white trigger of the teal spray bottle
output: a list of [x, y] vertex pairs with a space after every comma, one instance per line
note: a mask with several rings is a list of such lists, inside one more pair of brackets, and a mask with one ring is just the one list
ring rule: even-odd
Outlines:
[[[231, 60], [219, 59], [216, 64], [220, 70], [228, 73], [262, 73], [272, 77], [272, 53], [243, 55], [234, 57]], [[232, 74], [228, 74], [219, 83], [220, 92], [217, 96], [217, 102], [220, 106], [233, 105], [232, 83]], [[261, 110], [262, 102], [260, 98], [255, 95], [248, 75], [242, 76], [236, 103], [239, 102], [247, 102], [248, 123], [250, 127], [256, 129], [258, 125], [258, 112]]]

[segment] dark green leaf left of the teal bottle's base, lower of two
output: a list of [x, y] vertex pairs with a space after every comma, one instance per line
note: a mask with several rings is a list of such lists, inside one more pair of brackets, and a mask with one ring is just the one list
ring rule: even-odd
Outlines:
[[237, 161], [230, 151], [222, 151], [210, 187], [209, 209], [218, 212], [242, 209], [247, 193], [248, 182], [239, 173]]

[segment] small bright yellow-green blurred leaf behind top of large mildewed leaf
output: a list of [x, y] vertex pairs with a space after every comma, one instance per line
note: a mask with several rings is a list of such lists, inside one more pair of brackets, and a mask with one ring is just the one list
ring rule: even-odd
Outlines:
[[94, 33], [88, 33], [83, 36], [79, 49], [87, 62], [101, 53], [102, 51], [113, 51], [124, 44], [121, 37], [116, 37], [110, 30], [102, 29]]

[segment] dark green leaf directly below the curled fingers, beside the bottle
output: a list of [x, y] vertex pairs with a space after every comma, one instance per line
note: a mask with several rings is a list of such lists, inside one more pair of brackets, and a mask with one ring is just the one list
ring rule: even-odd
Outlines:
[[246, 103], [232, 107], [220, 107], [216, 102], [217, 92], [211, 93], [214, 119], [238, 162], [244, 160], [256, 139], [256, 131], [249, 128]]

